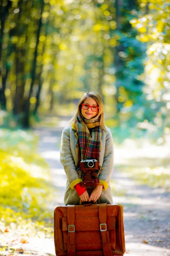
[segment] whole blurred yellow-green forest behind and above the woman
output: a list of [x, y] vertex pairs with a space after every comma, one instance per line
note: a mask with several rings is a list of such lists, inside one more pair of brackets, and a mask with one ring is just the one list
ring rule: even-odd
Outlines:
[[170, 134], [168, 0], [4, 0], [2, 9], [0, 104], [10, 115], [0, 125], [72, 115], [95, 91], [119, 127], [147, 120]]

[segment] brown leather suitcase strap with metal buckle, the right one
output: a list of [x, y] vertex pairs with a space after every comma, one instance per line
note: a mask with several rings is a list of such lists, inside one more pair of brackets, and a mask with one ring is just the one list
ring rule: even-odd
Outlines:
[[99, 204], [100, 233], [105, 256], [112, 256], [109, 232], [107, 230], [107, 203]]

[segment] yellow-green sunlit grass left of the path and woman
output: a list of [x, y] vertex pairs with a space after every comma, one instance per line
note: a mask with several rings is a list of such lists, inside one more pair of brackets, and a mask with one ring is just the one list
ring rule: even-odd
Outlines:
[[47, 163], [36, 153], [38, 136], [31, 131], [0, 129], [0, 220], [51, 220], [53, 201]]

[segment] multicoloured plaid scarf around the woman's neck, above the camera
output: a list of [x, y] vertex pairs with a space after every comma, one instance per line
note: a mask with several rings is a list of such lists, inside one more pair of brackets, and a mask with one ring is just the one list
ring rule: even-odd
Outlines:
[[[85, 159], [96, 159], [99, 161], [99, 152], [102, 148], [100, 118], [85, 119], [80, 114], [77, 115], [75, 128], [78, 134], [76, 151], [78, 152], [78, 163], [76, 166], [79, 171], [79, 163]], [[91, 129], [91, 133], [88, 129]]]

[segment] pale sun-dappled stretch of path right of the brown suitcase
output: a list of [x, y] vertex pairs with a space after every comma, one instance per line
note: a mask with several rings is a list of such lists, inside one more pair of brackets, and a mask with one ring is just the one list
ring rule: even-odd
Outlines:
[[131, 256], [170, 255], [170, 193], [164, 189], [136, 186], [115, 168], [113, 178], [126, 189], [114, 197], [124, 206], [125, 241]]

